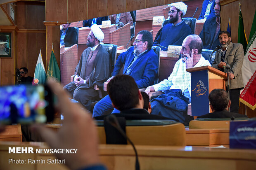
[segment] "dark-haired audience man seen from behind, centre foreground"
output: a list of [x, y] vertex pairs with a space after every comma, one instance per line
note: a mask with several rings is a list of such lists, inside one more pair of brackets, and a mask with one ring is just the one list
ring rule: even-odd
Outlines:
[[[140, 90], [129, 75], [117, 75], [107, 85], [107, 92], [114, 108], [120, 113], [113, 113], [116, 117], [124, 117], [126, 120], [140, 119], [169, 119], [163, 116], [152, 115], [144, 109], [144, 101]], [[97, 116], [95, 119], [101, 120], [105, 116]]]

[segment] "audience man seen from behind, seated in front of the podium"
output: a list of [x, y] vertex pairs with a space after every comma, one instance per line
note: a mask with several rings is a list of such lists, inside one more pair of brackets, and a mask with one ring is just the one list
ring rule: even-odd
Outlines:
[[197, 116], [197, 118], [231, 118], [233, 117], [247, 117], [246, 115], [228, 112], [231, 101], [228, 99], [228, 92], [223, 89], [213, 89], [209, 94], [209, 102], [212, 113]]

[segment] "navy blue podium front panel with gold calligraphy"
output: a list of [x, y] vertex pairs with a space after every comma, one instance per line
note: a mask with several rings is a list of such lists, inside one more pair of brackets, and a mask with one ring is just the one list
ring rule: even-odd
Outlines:
[[209, 78], [208, 70], [191, 72], [191, 112], [192, 116], [201, 116], [210, 112], [209, 109]]

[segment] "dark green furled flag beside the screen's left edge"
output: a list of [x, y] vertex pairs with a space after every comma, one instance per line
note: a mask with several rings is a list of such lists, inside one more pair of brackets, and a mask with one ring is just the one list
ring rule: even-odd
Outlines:
[[54, 52], [52, 50], [48, 70], [47, 70], [47, 77], [53, 77], [55, 78], [58, 82], [60, 82], [60, 71], [59, 71], [59, 65], [56, 61]]

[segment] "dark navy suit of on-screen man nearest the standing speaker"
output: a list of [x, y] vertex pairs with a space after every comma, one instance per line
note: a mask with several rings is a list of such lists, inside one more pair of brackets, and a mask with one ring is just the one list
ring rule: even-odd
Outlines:
[[203, 29], [199, 34], [199, 37], [201, 37], [203, 42], [203, 49], [215, 49], [217, 45], [220, 45], [220, 41], [218, 39], [220, 30], [218, 31], [217, 36], [214, 37], [216, 26], [218, 25], [216, 18], [217, 16], [206, 19]]

